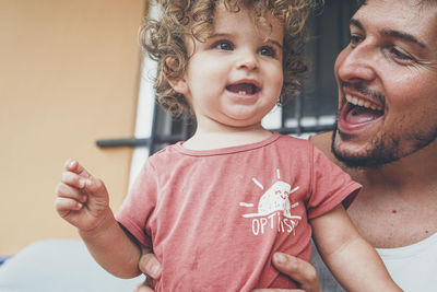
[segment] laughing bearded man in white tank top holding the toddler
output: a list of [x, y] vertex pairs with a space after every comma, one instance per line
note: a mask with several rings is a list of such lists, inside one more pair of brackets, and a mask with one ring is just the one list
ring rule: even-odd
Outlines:
[[[350, 27], [334, 68], [336, 129], [311, 141], [363, 184], [347, 212], [393, 280], [404, 291], [437, 291], [437, 1], [367, 0]], [[154, 262], [146, 255], [140, 267], [157, 277]], [[320, 291], [318, 278], [335, 291], [314, 262], [317, 273], [273, 258], [305, 291]]]

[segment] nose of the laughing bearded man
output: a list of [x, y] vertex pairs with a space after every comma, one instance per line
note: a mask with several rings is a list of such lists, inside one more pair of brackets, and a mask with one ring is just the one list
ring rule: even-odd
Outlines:
[[363, 43], [345, 48], [338, 59], [338, 75], [347, 82], [371, 81], [376, 77], [375, 61], [375, 49], [370, 45]]

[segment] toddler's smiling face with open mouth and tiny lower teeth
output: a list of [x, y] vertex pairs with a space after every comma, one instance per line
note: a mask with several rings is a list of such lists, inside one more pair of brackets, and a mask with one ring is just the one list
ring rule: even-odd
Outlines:
[[175, 90], [189, 101], [199, 126], [260, 127], [283, 84], [283, 26], [272, 15], [257, 25], [248, 9], [214, 13], [204, 43], [188, 39], [190, 57]]

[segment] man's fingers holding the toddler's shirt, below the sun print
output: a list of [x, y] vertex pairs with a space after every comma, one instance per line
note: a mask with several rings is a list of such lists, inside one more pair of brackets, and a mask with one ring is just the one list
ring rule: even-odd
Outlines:
[[277, 270], [285, 273], [297, 283], [299, 283], [300, 289], [285, 290], [285, 289], [257, 289], [253, 291], [260, 292], [321, 292], [319, 285], [319, 279], [317, 278], [317, 272], [311, 264], [293, 257], [283, 253], [275, 253], [273, 255], [273, 265]]

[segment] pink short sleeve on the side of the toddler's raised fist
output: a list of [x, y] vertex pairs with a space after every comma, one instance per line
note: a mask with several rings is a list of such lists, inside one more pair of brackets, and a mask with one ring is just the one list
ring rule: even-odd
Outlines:
[[156, 172], [147, 161], [116, 213], [117, 221], [146, 247], [152, 247], [145, 224], [155, 208], [156, 191]]

